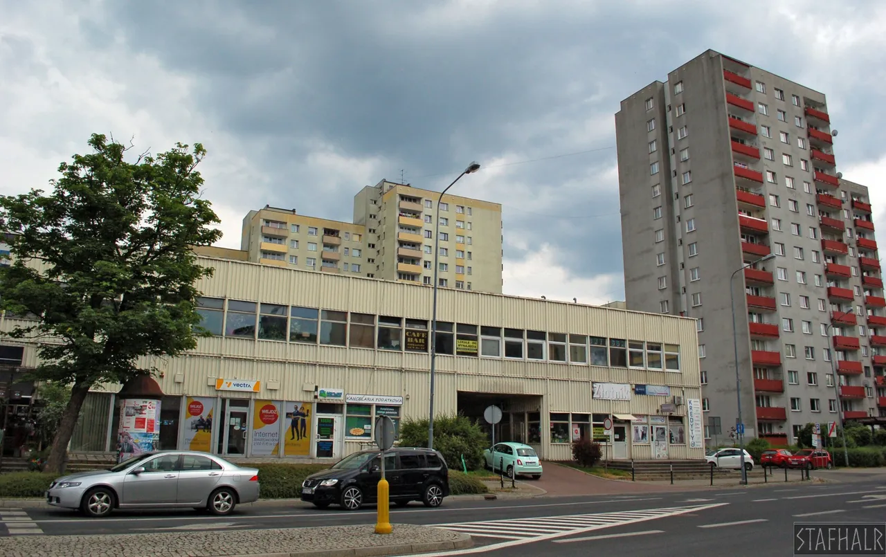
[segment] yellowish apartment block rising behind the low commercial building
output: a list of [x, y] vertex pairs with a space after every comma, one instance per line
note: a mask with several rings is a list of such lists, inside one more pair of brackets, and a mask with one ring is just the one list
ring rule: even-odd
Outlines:
[[[354, 222], [265, 206], [246, 214], [241, 250], [268, 265], [431, 285], [438, 198], [382, 180], [354, 196]], [[501, 293], [501, 205], [444, 196], [437, 243], [440, 287]]]

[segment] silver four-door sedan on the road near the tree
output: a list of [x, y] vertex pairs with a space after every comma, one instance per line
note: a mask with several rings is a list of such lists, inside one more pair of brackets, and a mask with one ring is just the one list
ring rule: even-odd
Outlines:
[[259, 499], [259, 471], [214, 454], [143, 453], [107, 470], [59, 477], [46, 491], [54, 507], [106, 516], [115, 508], [193, 507], [230, 514], [237, 503]]

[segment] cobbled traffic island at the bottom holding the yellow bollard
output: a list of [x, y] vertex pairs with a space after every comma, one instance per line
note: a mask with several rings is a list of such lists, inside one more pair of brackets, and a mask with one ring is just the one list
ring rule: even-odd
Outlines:
[[103, 536], [0, 538], [4, 557], [379, 557], [465, 549], [470, 536], [395, 524], [384, 536], [374, 525], [276, 530], [192, 531]]

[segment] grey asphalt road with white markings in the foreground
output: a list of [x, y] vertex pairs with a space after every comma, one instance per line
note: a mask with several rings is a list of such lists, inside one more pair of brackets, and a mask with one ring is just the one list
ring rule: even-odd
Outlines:
[[[882, 522], [886, 517], [886, 483], [881, 475], [858, 478], [851, 484], [775, 483], [626, 496], [448, 499], [437, 509], [412, 504], [392, 508], [391, 514], [394, 524], [438, 525], [475, 537], [475, 550], [448, 554], [664, 556], [675, 554], [675, 548], [689, 555], [718, 554], [728, 548], [730, 555], [781, 556], [792, 554], [793, 522]], [[28, 530], [82, 536], [373, 522], [373, 508], [346, 512], [301, 505], [241, 507], [222, 518], [194, 511], [156, 511], [118, 512], [99, 520], [65, 510], [24, 508], [0, 510], [0, 535]]]

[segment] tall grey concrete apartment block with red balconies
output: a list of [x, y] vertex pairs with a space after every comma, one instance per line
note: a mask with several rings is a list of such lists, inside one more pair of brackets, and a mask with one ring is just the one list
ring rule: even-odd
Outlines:
[[886, 415], [870, 198], [836, 172], [826, 97], [708, 50], [616, 133], [627, 306], [696, 318], [710, 443], [738, 416], [734, 338], [746, 438]]

